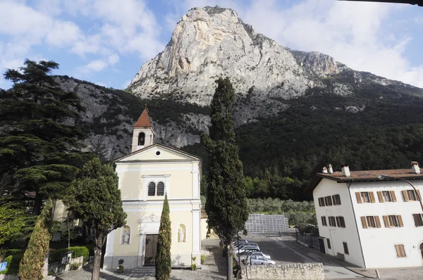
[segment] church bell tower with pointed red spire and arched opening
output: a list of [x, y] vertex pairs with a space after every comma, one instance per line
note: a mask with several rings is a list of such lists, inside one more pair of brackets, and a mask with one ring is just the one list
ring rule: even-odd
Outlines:
[[138, 118], [137, 122], [135, 122], [135, 125], [133, 125], [133, 143], [131, 153], [152, 145], [153, 140], [154, 131], [149, 120], [147, 104], [145, 104], [142, 114]]

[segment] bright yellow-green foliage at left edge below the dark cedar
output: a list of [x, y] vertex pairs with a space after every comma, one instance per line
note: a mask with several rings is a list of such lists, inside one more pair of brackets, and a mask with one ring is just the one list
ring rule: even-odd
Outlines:
[[0, 205], [0, 245], [13, 239], [25, 225], [25, 213], [11, 203]]

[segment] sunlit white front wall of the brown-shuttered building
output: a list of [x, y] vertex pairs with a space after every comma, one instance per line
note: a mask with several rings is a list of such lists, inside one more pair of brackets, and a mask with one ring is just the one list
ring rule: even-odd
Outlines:
[[[423, 194], [422, 180], [412, 184]], [[419, 245], [423, 242], [423, 227], [415, 227], [412, 214], [422, 212], [418, 201], [405, 202], [401, 191], [412, 187], [403, 181], [363, 182], [350, 186], [351, 196], [362, 241], [362, 250], [367, 268], [375, 267], [415, 267], [422, 266], [422, 253]], [[357, 203], [355, 192], [373, 191], [375, 203]], [[376, 191], [395, 191], [396, 202], [380, 203]], [[401, 215], [404, 227], [386, 228], [382, 216]], [[379, 216], [381, 228], [364, 229], [360, 217]], [[397, 257], [396, 244], [403, 244], [407, 257]]]

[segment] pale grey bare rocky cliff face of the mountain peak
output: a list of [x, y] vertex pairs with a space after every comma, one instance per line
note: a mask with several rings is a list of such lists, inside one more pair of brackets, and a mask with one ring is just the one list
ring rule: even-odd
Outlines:
[[[214, 80], [227, 76], [241, 98], [252, 98], [254, 108], [247, 106], [247, 113], [238, 115], [245, 119], [257, 117], [269, 99], [302, 96], [321, 85], [319, 77], [341, 70], [330, 56], [293, 52], [258, 34], [231, 9], [193, 8], [176, 25], [166, 49], [142, 65], [128, 89], [142, 98], [166, 96], [208, 106]], [[281, 101], [274, 105], [275, 111], [286, 108]]]

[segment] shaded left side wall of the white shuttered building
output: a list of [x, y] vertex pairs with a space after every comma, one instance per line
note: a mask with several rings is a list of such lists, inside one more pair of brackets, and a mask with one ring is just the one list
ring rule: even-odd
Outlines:
[[[339, 194], [341, 197], [341, 205], [319, 206], [319, 198], [324, 196], [332, 196]], [[344, 254], [345, 261], [350, 262], [359, 267], [364, 267], [362, 250], [357, 233], [357, 225], [353, 215], [353, 205], [351, 204], [350, 194], [348, 193], [348, 185], [345, 183], [337, 183], [329, 179], [322, 179], [320, 184], [313, 191], [314, 205], [316, 208], [317, 223], [319, 225], [319, 235], [329, 238], [331, 241], [331, 249], [328, 248], [326, 239], [324, 240], [326, 253], [329, 255], [344, 254], [343, 242], [348, 244], [349, 254]], [[326, 216], [327, 226], [321, 224], [321, 216]], [[329, 216], [342, 216], [345, 219], [345, 228], [330, 227]]]

